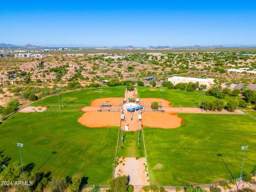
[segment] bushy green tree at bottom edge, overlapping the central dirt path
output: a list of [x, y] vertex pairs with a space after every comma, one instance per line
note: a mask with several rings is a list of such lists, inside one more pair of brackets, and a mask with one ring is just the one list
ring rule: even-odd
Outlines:
[[125, 192], [128, 187], [128, 179], [124, 176], [119, 176], [110, 181], [109, 192]]

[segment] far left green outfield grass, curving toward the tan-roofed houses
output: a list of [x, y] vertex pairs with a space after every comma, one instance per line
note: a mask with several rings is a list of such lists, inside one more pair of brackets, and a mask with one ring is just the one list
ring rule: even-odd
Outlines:
[[[102, 89], [100, 91], [99, 89]], [[72, 91], [63, 93], [60, 95], [54, 95], [42, 100], [38, 100], [31, 104], [31, 106], [49, 106], [48, 110], [59, 110], [63, 111], [77, 111], [83, 106], [90, 106], [91, 101], [99, 98], [108, 97], [124, 97], [125, 86], [115, 87], [99, 87], [97, 89], [86, 89], [81, 91]], [[62, 108], [62, 97], [63, 97], [63, 108]]]

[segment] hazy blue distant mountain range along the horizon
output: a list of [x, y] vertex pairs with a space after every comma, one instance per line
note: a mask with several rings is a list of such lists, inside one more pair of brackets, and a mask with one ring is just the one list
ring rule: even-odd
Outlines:
[[84, 49], [126, 49], [126, 50], [132, 50], [132, 49], [223, 49], [223, 48], [229, 48], [229, 47], [256, 47], [256, 45], [207, 45], [207, 46], [202, 46], [202, 45], [189, 45], [189, 46], [148, 46], [148, 47], [135, 47], [132, 45], [128, 46], [113, 46], [113, 47], [107, 47], [107, 46], [83, 46], [83, 45], [63, 45], [63, 46], [38, 46], [38, 45], [31, 45], [27, 44], [24, 46], [20, 45], [13, 45], [13, 44], [5, 44], [5, 43], [0, 43], [0, 48], [4, 49], [13, 49], [13, 48], [20, 48], [20, 49], [43, 49], [43, 48], [49, 48], [49, 47], [69, 47], [69, 48], [84, 48]]

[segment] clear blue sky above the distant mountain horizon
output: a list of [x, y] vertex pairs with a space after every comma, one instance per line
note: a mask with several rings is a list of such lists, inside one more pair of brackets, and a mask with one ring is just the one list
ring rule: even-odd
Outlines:
[[256, 1], [3, 1], [0, 43], [256, 44]]

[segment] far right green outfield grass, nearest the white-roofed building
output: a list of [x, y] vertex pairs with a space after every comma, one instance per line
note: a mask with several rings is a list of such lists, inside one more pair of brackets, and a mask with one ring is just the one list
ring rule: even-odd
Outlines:
[[[160, 91], [164, 90], [164, 91]], [[204, 101], [204, 94], [200, 92], [187, 92], [181, 90], [170, 90], [166, 87], [138, 87], [140, 98], [162, 98], [172, 103], [172, 107], [197, 107], [201, 94], [201, 103]], [[205, 95], [205, 101], [213, 101], [216, 98]], [[225, 100], [223, 100], [226, 102]]]

